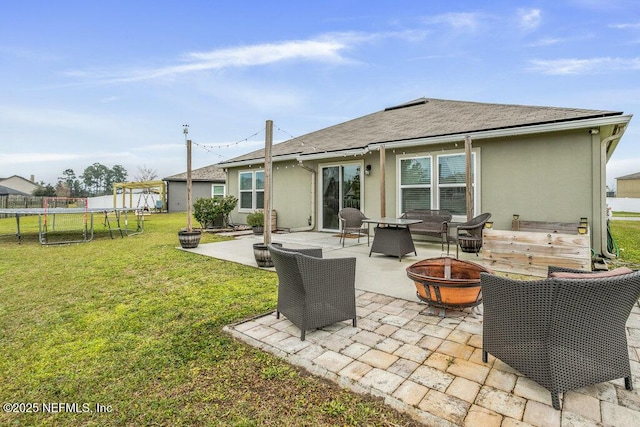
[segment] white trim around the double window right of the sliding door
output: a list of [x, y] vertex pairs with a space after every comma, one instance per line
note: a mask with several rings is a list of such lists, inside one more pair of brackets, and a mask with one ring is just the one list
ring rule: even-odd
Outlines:
[[[480, 183], [480, 164], [482, 163], [480, 161], [480, 147], [474, 147], [472, 148], [471, 152], [473, 153], [473, 159], [474, 159], [474, 168], [473, 168], [473, 213], [474, 216], [477, 216], [480, 214], [480, 209], [481, 209], [481, 205], [480, 205], [480, 188], [481, 187], [481, 183]], [[400, 162], [402, 160], [407, 160], [407, 159], [423, 159], [423, 158], [431, 158], [431, 209], [439, 209], [440, 208], [440, 188], [442, 187], [440, 185], [440, 181], [439, 181], [439, 176], [438, 176], [438, 167], [439, 167], [439, 158], [440, 157], [450, 157], [450, 156], [456, 156], [456, 155], [460, 155], [460, 154], [464, 154], [464, 150], [450, 150], [450, 151], [444, 151], [441, 152], [439, 154], [434, 154], [434, 153], [410, 153], [407, 155], [401, 155], [401, 156], [397, 156], [396, 157], [396, 182], [397, 184], [397, 191], [396, 191], [396, 212], [398, 213], [398, 216], [402, 214], [401, 209], [402, 209], [402, 200], [401, 200], [401, 185], [400, 185], [400, 174], [401, 174], [401, 170], [400, 170]], [[445, 186], [458, 186], [458, 185], [445, 185]], [[414, 186], [403, 186], [402, 188], [411, 188]], [[420, 187], [422, 188], [423, 186], [415, 186], [415, 187]], [[466, 222], [467, 221], [467, 217], [464, 215], [454, 215], [452, 218], [452, 221], [454, 222]]]

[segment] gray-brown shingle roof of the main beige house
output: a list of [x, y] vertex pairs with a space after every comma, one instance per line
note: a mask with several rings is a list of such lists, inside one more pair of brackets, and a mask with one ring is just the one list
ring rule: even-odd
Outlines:
[[[370, 144], [621, 115], [578, 108], [488, 104], [420, 98], [275, 144], [272, 155], [312, 154]], [[228, 162], [264, 158], [264, 149]]]

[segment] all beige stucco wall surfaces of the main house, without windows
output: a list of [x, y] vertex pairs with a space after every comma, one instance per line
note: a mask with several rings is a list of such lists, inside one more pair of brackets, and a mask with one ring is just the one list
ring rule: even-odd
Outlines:
[[[599, 143], [586, 130], [520, 136], [504, 139], [473, 141], [476, 155], [476, 183], [478, 185], [476, 212], [490, 212], [496, 229], [511, 228], [513, 214], [521, 219], [548, 222], [578, 222], [589, 218], [592, 238], [598, 241], [601, 230], [593, 221], [594, 179], [599, 173]], [[387, 216], [398, 216], [398, 158], [431, 155], [434, 167], [440, 154], [464, 153], [464, 141], [443, 145], [412, 148], [387, 148], [385, 162], [385, 200]], [[277, 211], [278, 226], [298, 229], [307, 227], [313, 215], [318, 226], [321, 214], [321, 166], [341, 163], [370, 164], [371, 174], [364, 175], [363, 208], [369, 217], [382, 214], [380, 207], [380, 152], [349, 159], [324, 162], [305, 161], [316, 171], [315, 192], [313, 174], [295, 161], [275, 162], [273, 170], [273, 208]], [[229, 194], [238, 194], [238, 172], [248, 167], [231, 168], [228, 174]], [[252, 169], [262, 169], [253, 165]], [[315, 203], [312, 203], [312, 194]], [[596, 200], [597, 202], [597, 200]], [[315, 212], [312, 212], [315, 206]], [[234, 212], [234, 222], [243, 223], [246, 213]], [[460, 219], [457, 219], [460, 220]]]

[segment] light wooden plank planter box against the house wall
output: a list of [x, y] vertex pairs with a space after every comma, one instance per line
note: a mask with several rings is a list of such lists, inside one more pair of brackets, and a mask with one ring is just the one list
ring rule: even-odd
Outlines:
[[591, 270], [591, 236], [578, 234], [578, 223], [514, 221], [514, 230], [485, 228], [483, 264], [493, 270], [547, 276], [547, 267]]

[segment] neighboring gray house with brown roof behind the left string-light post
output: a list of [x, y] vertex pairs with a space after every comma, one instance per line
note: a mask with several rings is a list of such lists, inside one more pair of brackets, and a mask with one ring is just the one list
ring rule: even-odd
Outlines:
[[[167, 182], [167, 211], [187, 210], [187, 172], [163, 178]], [[215, 165], [191, 171], [191, 200], [227, 195], [225, 172]]]

